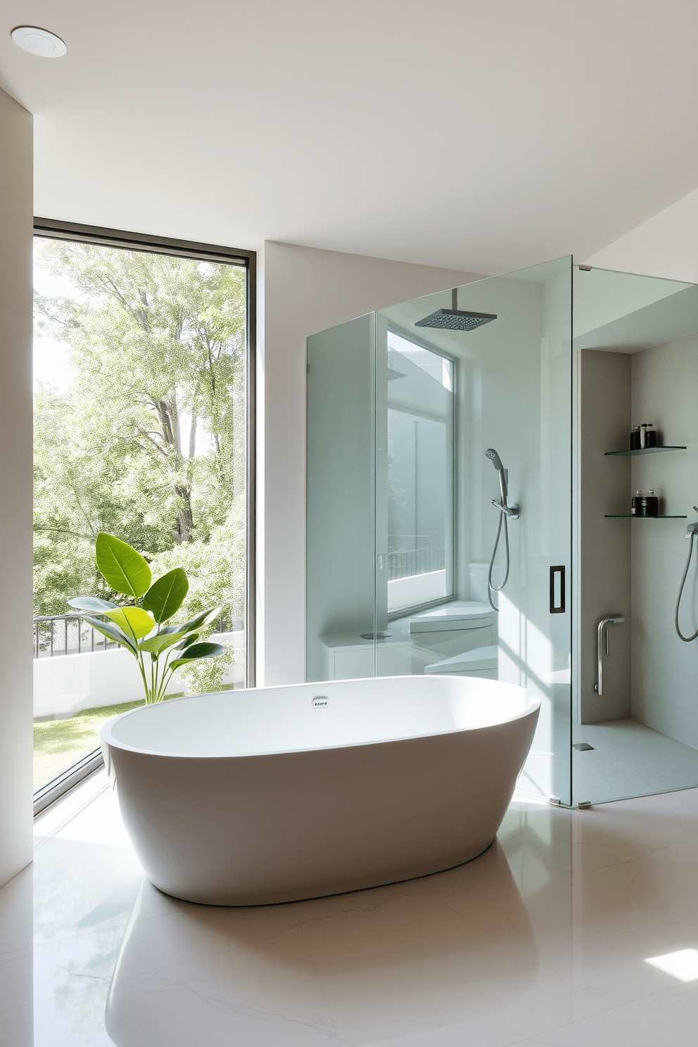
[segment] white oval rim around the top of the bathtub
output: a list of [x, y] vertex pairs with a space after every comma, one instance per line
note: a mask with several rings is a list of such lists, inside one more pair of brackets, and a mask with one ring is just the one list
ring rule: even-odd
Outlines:
[[[319, 681], [318, 684], [319, 684], [319, 686], [323, 686], [323, 685], [327, 685], [327, 684], [339, 684], [339, 683], [341, 683], [341, 684], [358, 684], [358, 683], [365, 683], [365, 681], [367, 681], [367, 680], [368, 681], [376, 681], [376, 680], [392, 681], [392, 680], [414, 680], [414, 678], [420, 678], [420, 680], [437, 680], [437, 681], [443, 682], [444, 674], [435, 675], [435, 674], [430, 673], [429, 675], [425, 674], [424, 676], [420, 676], [420, 677], [404, 676], [404, 675], [403, 676], [359, 676], [359, 677], [357, 677], [355, 680]], [[472, 677], [472, 678], [477, 678], [477, 677]], [[250, 757], [260, 757], [260, 756], [265, 756], [265, 757], [266, 756], [284, 756], [284, 755], [293, 755], [293, 754], [300, 754], [300, 753], [317, 753], [317, 752], [323, 752], [325, 750], [329, 751], [329, 750], [335, 750], [335, 749], [358, 749], [358, 748], [365, 747], [365, 745], [386, 745], [386, 744], [390, 744], [392, 742], [398, 742], [398, 741], [413, 741], [413, 740], [416, 740], [419, 738], [434, 738], [434, 737], [438, 737], [441, 735], [475, 733], [476, 731], [490, 731], [490, 730], [492, 730], [492, 728], [499, 727], [499, 726], [502, 726], [502, 725], [505, 725], [505, 723], [514, 723], [516, 720], [523, 719], [524, 717], [531, 716], [532, 714], [538, 713], [540, 711], [540, 708], [541, 708], [541, 698], [540, 698], [540, 695], [536, 694], [536, 692], [533, 691], [533, 690], [531, 690], [530, 688], [521, 687], [519, 684], [506, 684], [503, 681], [485, 680], [482, 682], [486, 683], [486, 684], [501, 684], [503, 687], [506, 687], [506, 688], [514, 687], [514, 688], [516, 688], [517, 691], [523, 692], [522, 696], [528, 695], [528, 704], [526, 705], [526, 708], [523, 709], [521, 712], [516, 713], [513, 716], [508, 716], [508, 717], [504, 717], [502, 719], [496, 719], [496, 720], [493, 720], [490, 723], [481, 723], [478, 727], [453, 728], [452, 730], [449, 730], [449, 731], [427, 731], [427, 732], [423, 731], [420, 734], [403, 735], [403, 736], [398, 737], [398, 738], [371, 738], [371, 739], [365, 739], [365, 740], [362, 740], [362, 741], [351, 741], [351, 742], [346, 742], [346, 743], [339, 744], [339, 745], [308, 745], [308, 747], [303, 747], [302, 749], [300, 749], [300, 748], [298, 748], [296, 745], [296, 747], [293, 747], [291, 749], [264, 750], [264, 751], [255, 751], [253, 753], [234, 753], [234, 752], [232, 752], [232, 753], [178, 753], [178, 752], [174, 752], [172, 750], [166, 750], [166, 751], [159, 750], [158, 751], [158, 750], [153, 750], [153, 749], [143, 749], [141, 747], [136, 747], [136, 745], [129, 745], [126, 742], [119, 741], [118, 739], [114, 738], [114, 736], [112, 734], [112, 727], [115, 723], [117, 723], [120, 720], [125, 719], [127, 716], [133, 716], [136, 713], [142, 713], [142, 711], [144, 709], [154, 709], [156, 707], [161, 707], [161, 706], [165, 705], [165, 701], [158, 701], [158, 703], [153, 703], [150, 706], [149, 705], [137, 706], [135, 709], [129, 709], [127, 712], [119, 713], [119, 715], [113, 716], [111, 719], [108, 719], [105, 723], [103, 723], [103, 726], [102, 726], [102, 728], [99, 730], [99, 739], [100, 739], [103, 745], [109, 745], [109, 747], [114, 748], [114, 749], [120, 749], [120, 750], [123, 750], [125, 752], [129, 752], [129, 753], [140, 753], [143, 756], [156, 756], [156, 757], [160, 757], [160, 758], [164, 758], [164, 759], [167, 759], [167, 758], [175, 758], [175, 759], [180, 759], [180, 760], [182, 760], [182, 759], [189, 759], [189, 760], [249, 759]], [[314, 682], [311, 681], [310, 683], [312, 684]], [[268, 690], [268, 691], [271, 691], [271, 690], [274, 690], [274, 691], [296, 690], [299, 687], [308, 687], [308, 686], [309, 686], [308, 683], [303, 683], [303, 684], [279, 684], [279, 685], [275, 685], [274, 687], [258, 687], [258, 688], [257, 687], [245, 687], [245, 688], [241, 687], [238, 690], [238, 694], [240, 694], [242, 691], [250, 691], [250, 692], [252, 692], [252, 691], [265, 691], [265, 690]], [[206, 691], [204, 694], [186, 694], [186, 695], [182, 695], [179, 698], [167, 698], [165, 700], [166, 700], [166, 704], [170, 705], [170, 703], [174, 704], [174, 703], [179, 703], [179, 701], [190, 701], [192, 699], [208, 697], [210, 695], [216, 695], [216, 694], [230, 694], [230, 693], [234, 693], [234, 691], [233, 692], [229, 692], [229, 691]]]

